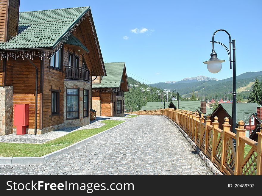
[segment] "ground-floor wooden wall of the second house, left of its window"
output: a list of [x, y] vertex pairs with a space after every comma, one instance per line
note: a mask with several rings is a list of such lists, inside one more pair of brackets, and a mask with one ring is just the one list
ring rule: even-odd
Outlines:
[[101, 92], [101, 116], [111, 116], [112, 92]]

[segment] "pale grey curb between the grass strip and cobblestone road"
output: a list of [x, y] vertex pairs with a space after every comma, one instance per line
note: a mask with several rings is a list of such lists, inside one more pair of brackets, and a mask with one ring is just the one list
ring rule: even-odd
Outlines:
[[115, 130], [119, 126], [122, 126], [124, 123], [127, 123], [128, 121], [125, 121], [123, 123], [120, 123], [119, 125], [116, 125], [112, 128], [109, 128], [105, 131], [102, 131], [98, 134], [95, 134], [91, 137], [88, 137], [86, 139], [83, 139], [82, 141], [76, 142], [70, 146], [67, 146], [65, 148], [62, 148], [60, 150], [54, 151], [52, 153], [40, 156], [40, 157], [0, 157], [0, 165], [33, 165], [33, 164], [45, 164], [47, 161], [50, 161], [62, 154], [65, 154], [71, 150], [74, 150], [88, 142], [92, 142], [95, 139], [98, 139], [99, 137], [104, 136], [106, 133], [109, 133], [110, 131]]

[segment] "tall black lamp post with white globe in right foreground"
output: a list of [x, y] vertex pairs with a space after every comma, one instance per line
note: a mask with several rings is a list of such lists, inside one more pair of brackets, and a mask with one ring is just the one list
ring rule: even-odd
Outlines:
[[[216, 34], [216, 32], [218, 31], [224, 31], [227, 33], [227, 35], [229, 36], [229, 49], [227, 48], [227, 46], [225, 46], [224, 44], [220, 43], [220, 42], [216, 42], [214, 41], [214, 36]], [[208, 64], [208, 71], [210, 71], [211, 73], [218, 73], [221, 68], [222, 68], [222, 62], [225, 62], [225, 60], [220, 60], [217, 58], [217, 54], [215, 52], [214, 49], [214, 43], [219, 43], [222, 46], [224, 46], [224, 48], [226, 48], [227, 50], [227, 54], [229, 57], [229, 62], [230, 62], [230, 69], [232, 69], [232, 63], [233, 63], [233, 105], [232, 105], [232, 132], [236, 133], [236, 40], [231, 40], [231, 36], [229, 34], [229, 32], [227, 32], [224, 29], [219, 29], [216, 30], [213, 34], [212, 37], [212, 53], [210, 54], [211, 58], [208, 61], [205, 61], [205, 64]], [[231, 49], [231, 44], [233, 46], [233, 48]], [[232, 60], [232, 50], [233, 50], [233, 60]], [[234, 142], [235, 143], [235, 142]], [[235, 145], [235, 144], [234, 144]]]

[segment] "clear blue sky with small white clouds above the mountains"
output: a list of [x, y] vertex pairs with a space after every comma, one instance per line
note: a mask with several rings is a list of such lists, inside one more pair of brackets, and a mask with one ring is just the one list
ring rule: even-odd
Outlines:
[[[227, 52], [219, 44], [218, 58], [226, 60], [222, 70], [212, 74], [203, 64], [217, 29], [226, 29], [236, 40], [237, 75], [262, 71], [261, 0], [21, 0], [20, 12], [84, 6], [91, 7], [104, 60], [126, 62], [129, 76], [152, 83], [199, 75], [232, 77]], [[216, 33], [215, 40], [229, 46], [224, 32]]]

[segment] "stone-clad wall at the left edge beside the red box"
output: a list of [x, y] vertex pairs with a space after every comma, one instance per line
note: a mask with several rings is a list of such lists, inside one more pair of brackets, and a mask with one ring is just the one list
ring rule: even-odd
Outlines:
[[13, 86], [0, 87], [0, 135], [13, 133]]

